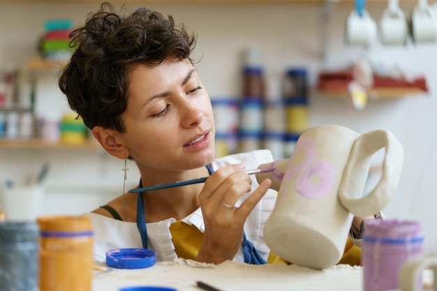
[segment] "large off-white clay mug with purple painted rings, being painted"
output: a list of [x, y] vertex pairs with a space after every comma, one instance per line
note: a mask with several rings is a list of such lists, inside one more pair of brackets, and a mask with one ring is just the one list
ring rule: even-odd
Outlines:
[[[383, 148], [380, 181], [363, 197], [371, 158]], [[402, 163], [403, 147], [387, 130], [363, 135], [335, 125], [305, 130], [287, 163], [274, 210], [265, 224], [267, 246], [294, 264], [332, 267], [341, 259], [353, 215], [371, 216], [390, 202]]]

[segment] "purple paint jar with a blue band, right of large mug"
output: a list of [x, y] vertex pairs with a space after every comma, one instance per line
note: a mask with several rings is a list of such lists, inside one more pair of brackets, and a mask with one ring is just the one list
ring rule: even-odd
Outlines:
[[403, 263], [423, 253], [422, 226], [415, 221], [368, 220], [364, 224], [364, 291], [399, 288]]

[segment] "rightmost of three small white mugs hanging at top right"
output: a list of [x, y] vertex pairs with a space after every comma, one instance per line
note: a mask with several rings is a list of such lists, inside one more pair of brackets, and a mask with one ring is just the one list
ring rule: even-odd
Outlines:
[[431, 43], [437, 40], [437, 20], [427, 1], [419, 1], [411, 14], [411, 34], [415, 43]]

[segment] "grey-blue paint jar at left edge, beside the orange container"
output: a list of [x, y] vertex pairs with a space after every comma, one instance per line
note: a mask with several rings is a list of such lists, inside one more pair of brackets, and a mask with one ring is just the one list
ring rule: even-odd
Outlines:
[[36, 222], [0, 223], [0, 290], [38, 290], [38, 243]]

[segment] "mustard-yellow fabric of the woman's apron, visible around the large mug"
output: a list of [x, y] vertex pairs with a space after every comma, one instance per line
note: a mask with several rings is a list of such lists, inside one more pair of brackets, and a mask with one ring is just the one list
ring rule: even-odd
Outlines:
[[[188, 225], [182, 221], [177, 221], [170, 225], [170, 233], [172, 234], [172, 241], [175, 245], [175, 252], [178, 258], [185, 258], [195, 260], [198, 255], [200, 246], [203, 241], [203, 233], [194, 225]], [[355, 246], [353, 242], [348, 239], [346, 247], [339, 264], [360, 265], [361, 248]], [[286, 260], [279, 258], [278, 255], [272, 251], [267, 258], [268, 264], [284, 264]]]

